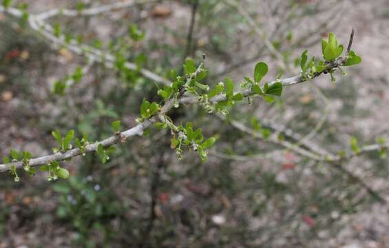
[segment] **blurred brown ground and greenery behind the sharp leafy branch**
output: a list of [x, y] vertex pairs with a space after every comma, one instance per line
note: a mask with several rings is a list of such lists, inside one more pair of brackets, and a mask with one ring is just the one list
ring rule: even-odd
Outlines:
[[323, 75], [286, 87], [273, 104], [244, 99], [227, 117], [200, 105], [174, 110], [175, 123], [218, 137], [205, 163], [193, 152], [178, 160], [170, 132], [151, 128], [108, 163], [97, 154], [63, 162], [66, 180], [0, 174], [0, 247], [389, 247], [388, 159], [370, 152], [342, 170], [274, 142], [337, 154], [350, 152], [351, 137], [389, 138], [389, 1], [14, 0], [10, 8], [25, 14], [0, 11], [0, 157], [10, 148], [52, 153], [52, 130], [100, 141], [112, 121], [133, 127], [143, 99], [160, 101], [160, 82], [141, 68], [171, 80], [185, 58], [205, 54], [205, 82], [229, 76], [238, 89], [258, 61], [269, 64], [265, 81], [297, 75], [304, 50], [321, 56], [329, 32], [347, 45], [352, 28], [363, 62], [335, 74], [337, 83]]

